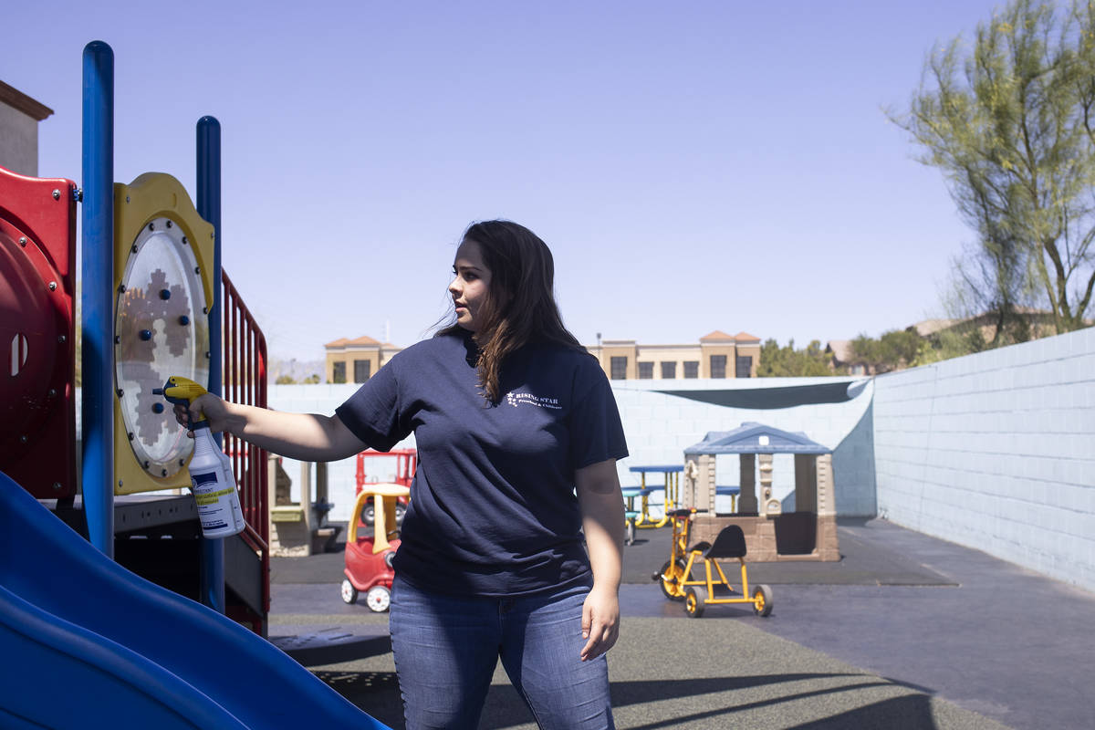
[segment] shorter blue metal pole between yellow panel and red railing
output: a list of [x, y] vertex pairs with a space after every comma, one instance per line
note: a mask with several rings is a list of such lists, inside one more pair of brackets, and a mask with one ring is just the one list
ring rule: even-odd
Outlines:
[[[221, 386], [221, 283], [220, 283], [220, 123], [201, 117], [197, 124], [197, 208], [212, 223], [212, 301], [209, 302], [209, 387], [223, 394]], [[220, 445], [221, 437], [215, 437]], [[201, 538], [201, 602], [224, 613], [224, 541]]]

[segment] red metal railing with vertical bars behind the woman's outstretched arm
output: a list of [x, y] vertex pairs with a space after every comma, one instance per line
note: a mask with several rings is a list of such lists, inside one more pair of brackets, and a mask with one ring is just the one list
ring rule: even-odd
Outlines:
[[[223, 396], [233, 403], [266, 407], [266, 338], [258, 328], [240, 292], [228, 274], [221, 270], [223, 298]], [[243, 538], [262, 560], [263, 611], [270, 610], [269, 581], [269, 503], [267, 452], [224, 433], [224, 453], [232, 460], [232, 472], [240, 487], [240, 506], [247, 523]], [[265, 619], [265, 616], [263, 616]]]

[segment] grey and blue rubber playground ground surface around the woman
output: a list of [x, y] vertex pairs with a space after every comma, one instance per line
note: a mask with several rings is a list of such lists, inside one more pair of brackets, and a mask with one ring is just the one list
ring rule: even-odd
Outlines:
[[[723, 605], [693, 619], [650, 580], [668, 528], [641, 530], [609, 654], [616, 727], [1095, 727], [1095, 595], [883, 520], [838, 532], [839, 563], [749, 564], [770, 616]], [[387, 614], [342, 602], [342, 568], [341, 552], [273, 559], [270, 640], [403, 728]], [[535, 728], [500, 667], [480, 727]]]

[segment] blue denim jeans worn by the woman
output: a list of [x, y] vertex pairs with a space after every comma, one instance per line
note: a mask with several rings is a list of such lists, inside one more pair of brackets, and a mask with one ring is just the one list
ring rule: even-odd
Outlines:
[[407, 730], [475, 730], [499, 657], [544, 730], [614, 730], [608, 662], [578, 658], [588, 593], [451, 596], [396, 575], [390, 625]]

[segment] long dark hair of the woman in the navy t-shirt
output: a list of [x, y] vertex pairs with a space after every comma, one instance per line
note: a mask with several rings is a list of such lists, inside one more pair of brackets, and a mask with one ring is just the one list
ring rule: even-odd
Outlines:
[[[491, 220], [472, 223], [461, 240], [476, 243], [483, 264], [491, 269], [491, 288], [476, 314], [481, 324], [474, 339], [480, 349], [480, 386], [487, 401], [497, 403], [502, 368], [510, 354], [531, 341], [584, 348], [563, 326], [555, 304], [555, 262], [540, 236], [518, 223]], [[438, 334], [461, 331], [450, 325]]]

